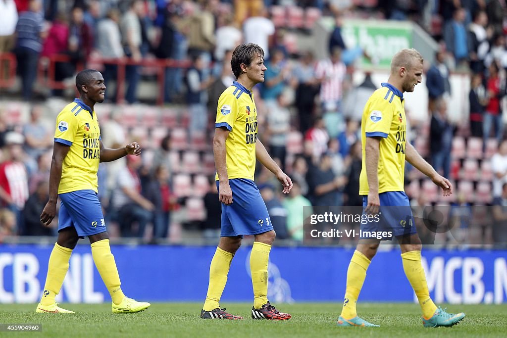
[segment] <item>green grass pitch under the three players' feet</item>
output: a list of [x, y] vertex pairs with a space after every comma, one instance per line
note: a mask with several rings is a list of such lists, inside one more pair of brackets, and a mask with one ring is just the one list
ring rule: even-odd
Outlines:
[[507, 332], [507, 304], [451, 305], [466, 317], [452, 328], [422, 327], [419, 306], [406, 303], [360, 303], [359, 314], [380, 328], [341, 328], [335, 325], [341, 304], [277, 305], [291, 313], [288, 321], [253, 320], [251, 304], [224, 302], [242, 321], [203, 320], [200, 303], [154, 303], [138, 314], [113, 314], [111, 305], [61, 304], [77, 314], [36, 314], [33, 305], [0, 305], [0, 323], [42, 324], [41, 332], [0, 332], [13, 337], [501, 337]]

